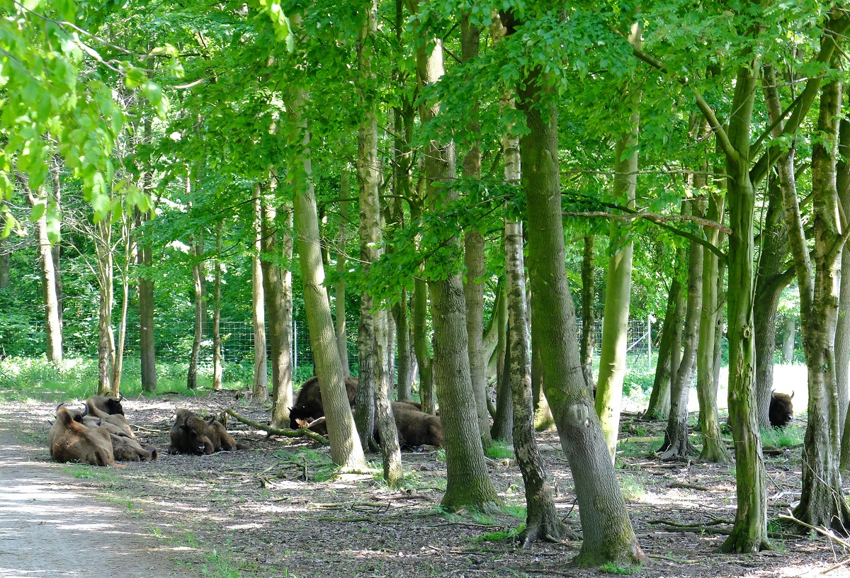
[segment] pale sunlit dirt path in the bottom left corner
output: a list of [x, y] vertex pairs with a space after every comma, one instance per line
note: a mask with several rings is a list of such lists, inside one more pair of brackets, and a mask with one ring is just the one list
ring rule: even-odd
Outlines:
[[37, 460], [13, 428], [0, 416], [0, 578], [189, 576], [127, 508], [97, 500], [59, 464]]

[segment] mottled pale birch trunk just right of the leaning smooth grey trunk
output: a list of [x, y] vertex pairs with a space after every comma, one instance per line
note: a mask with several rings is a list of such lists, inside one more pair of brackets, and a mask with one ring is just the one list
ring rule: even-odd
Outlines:
[[[374, 94], [375, 71], [373, 70], [373, 42], [377, 36], [377, 0], [371, 0], [368, 16], [360, 30], [360, 102], [363, 121], [360, 123], [357, 154], [357, 177], [360, 184], [360, 258], [370, 272], [371, 263], [381, 258], [383, 236], [381, 231], [381, 200], [378, 190], [381, 184], [380, 165], [377, 156], [377, 99]], [[373, 395], [366, 400], [365, 407], [357, 405], [357, 425], [362, 427], [377, 418], [377, 431], [381, 441], [383, 478], [389, 486], [398, 485], [403, 477], [401, 469], [401, 450], [399, 433], [395, 426], [390, 406], [392, 376], [389, 374], [388, 353], [388, 311], [382, 307], [376, 309], [374, 297], [368, 292], [360, 296], [360, 354], [366, 353], [367, 371], [364, 374], [363, 361], [360, 358], [360, 388], [357, 396], [360, 400], [364, 390], [371, 389]], [[372, 309], [375, 312], [372, 313]], [[370, 339], [371, 343], [365, 343]], [[371, 367], [368, 364], [371, 361]], [[370, 372], [371, 371], [371, 372]], [[365, 409], [368, 411], [364, 411]], [[374, 413], [373, 413], [374, 412]], [[377, 414], [377, 415], [376, 415]], [[366, 419], [362, 419], [363, 417]], [[362, 431], [362, 430], [361, 430]], [[372, 430], [361, 434], [365, 443], [371, 439]]]

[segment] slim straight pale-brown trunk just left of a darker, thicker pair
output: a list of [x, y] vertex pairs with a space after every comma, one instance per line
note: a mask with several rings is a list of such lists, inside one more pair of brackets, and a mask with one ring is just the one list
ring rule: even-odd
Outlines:
[[263, 185], [254, 184], [254, 251], [251, 258], [252, 326], [254, 330], [254, 382], [252, 398], [269, 399], [269, 365], [265, 335], [265, 293], [263, 292]]

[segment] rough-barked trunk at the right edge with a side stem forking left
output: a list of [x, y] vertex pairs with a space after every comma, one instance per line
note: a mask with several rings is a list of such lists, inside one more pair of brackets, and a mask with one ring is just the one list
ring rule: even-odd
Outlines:
[[[832, 42], [827, 40], [826, 42]], [[833, 65], [836, 65], [833, 59]], [[808, 367], [808, 427], [802, 453], [802, 494], [796, 518], [840, 532], [850, 526], [850, 507], [842, 489], [835, 337], [838, 320], [838, 258], [846, 241], [839, 234], [836, 141], [842, 88], [821, 89], [818, 133], [812, 148], [814, 266], [802, 228], [796, 194], [785, 190], [791, 251], [800, 287], [803, 349]], [[789, 153], [791, 156], [791, 153]], [[780, 178], [793, 183], [793, 166], [780, 163]], [[786, 174], [787, 173], [787, 174]]]

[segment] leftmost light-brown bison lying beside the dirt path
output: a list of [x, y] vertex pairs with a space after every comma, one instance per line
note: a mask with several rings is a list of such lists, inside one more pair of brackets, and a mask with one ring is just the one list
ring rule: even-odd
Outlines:
[[[84, 415], [85, 412], [83, 412]], [[50, 428], [50, 457], [54, 462], [115, 466], [112, 440], [104, 428], [89, 428], [67, 408], [59, 406]]]

